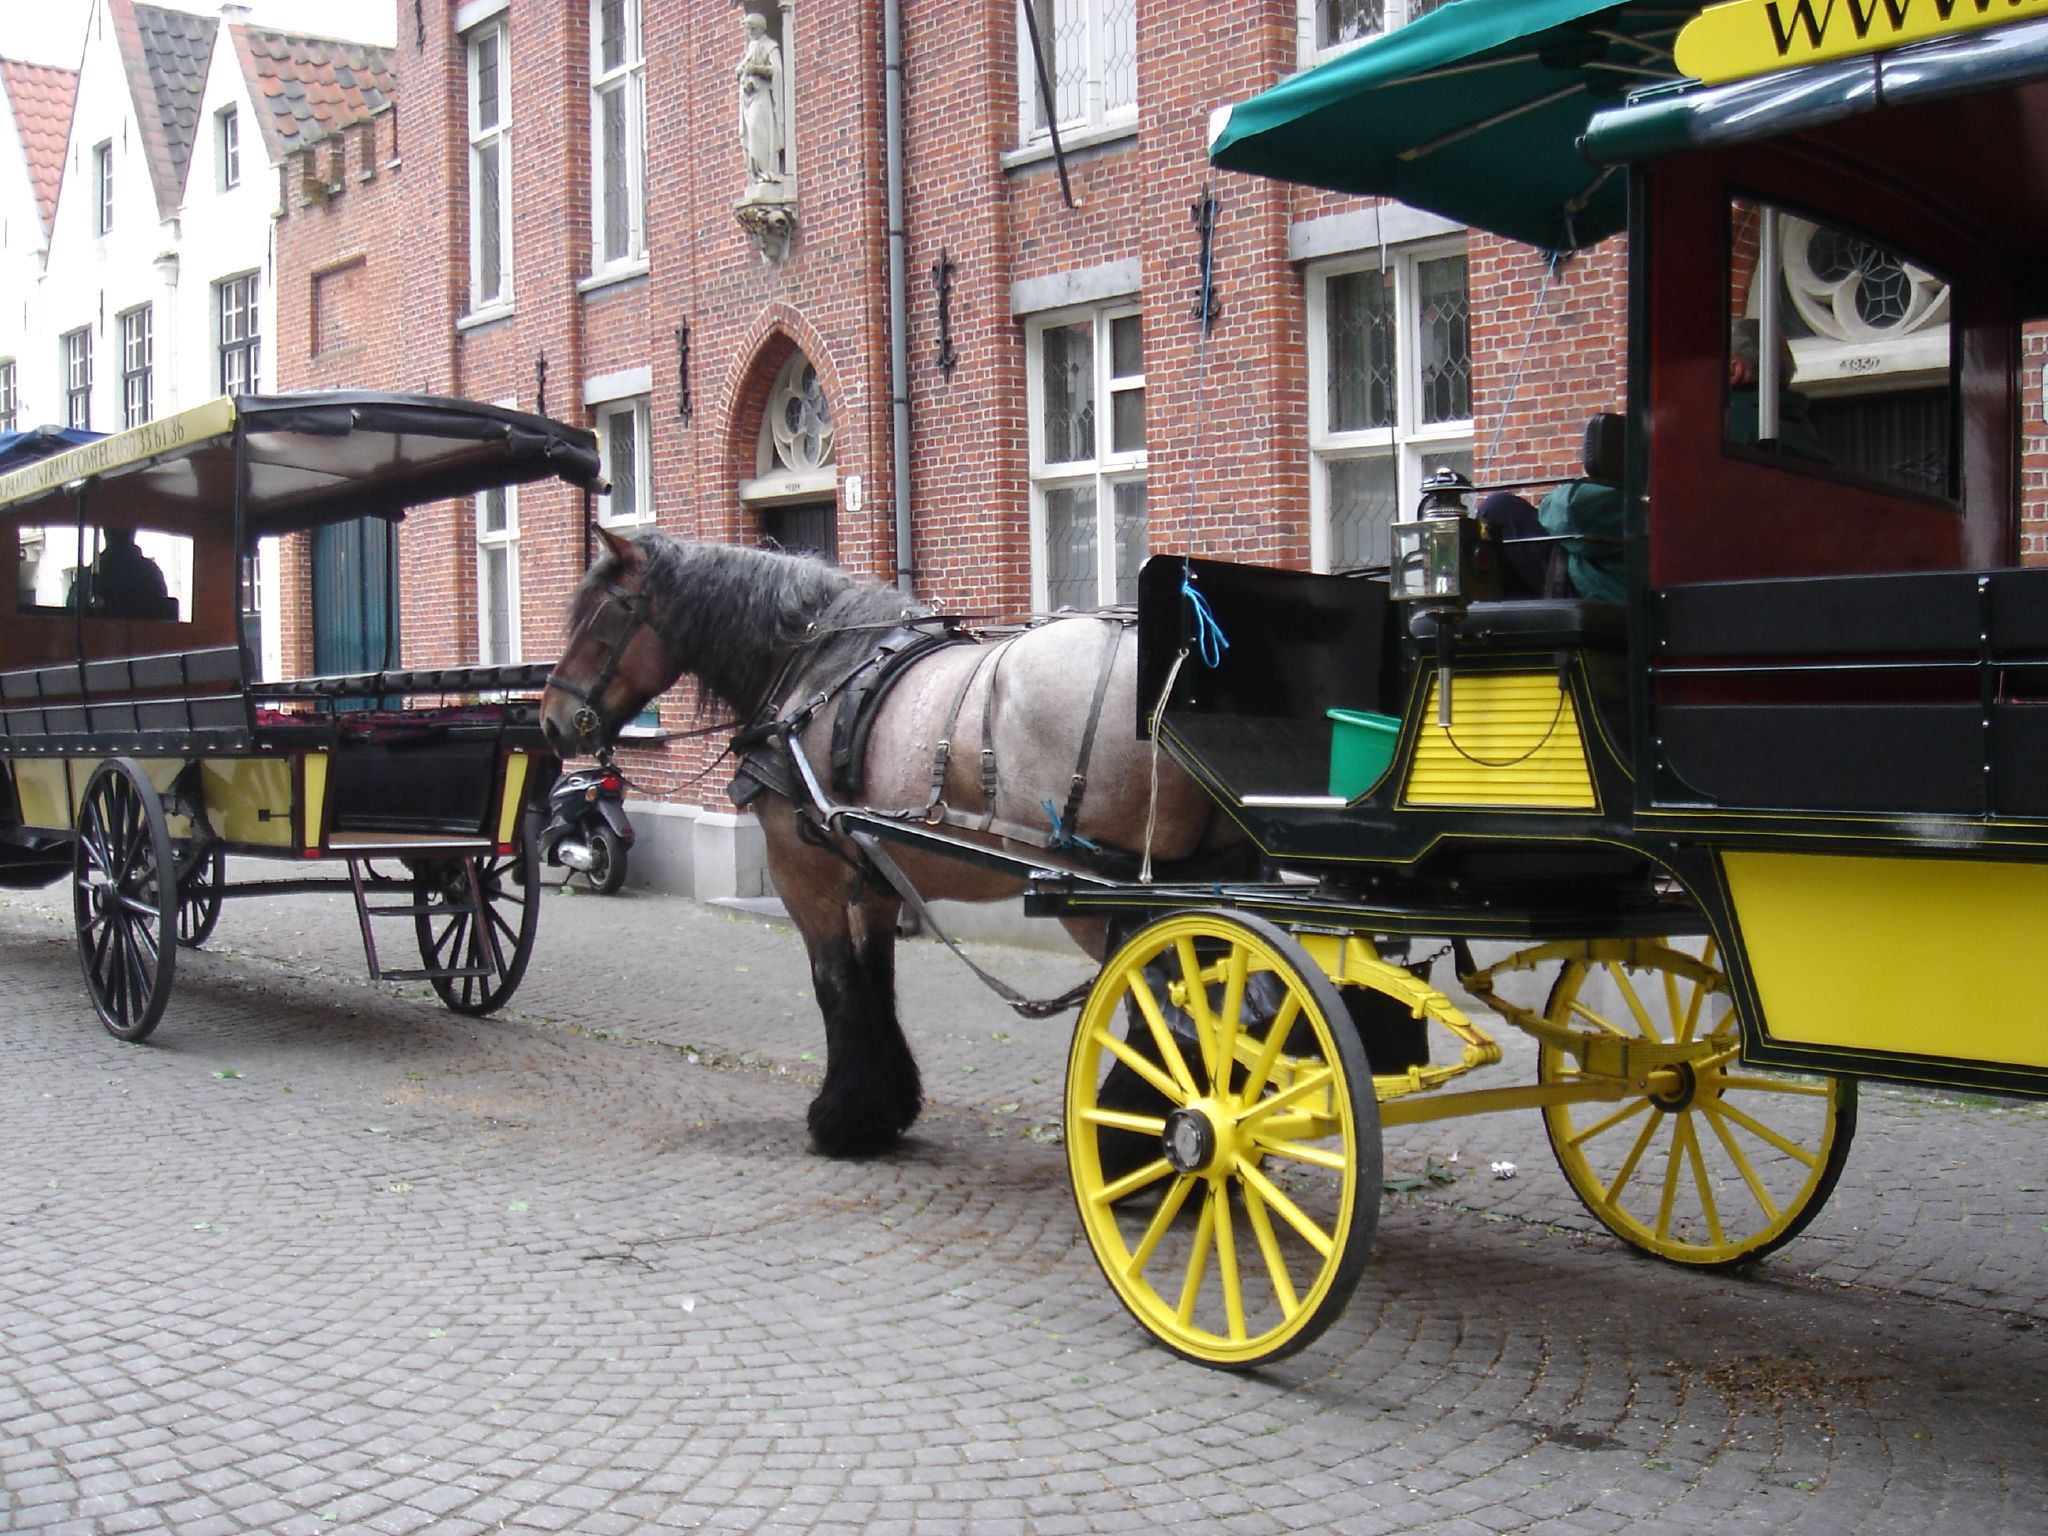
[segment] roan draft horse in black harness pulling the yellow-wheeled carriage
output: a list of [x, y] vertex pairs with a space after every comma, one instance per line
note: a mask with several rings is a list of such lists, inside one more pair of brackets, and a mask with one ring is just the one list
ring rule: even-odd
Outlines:
[[[1098, 856], [1090, 850], [1208, 868], [1241, 846], [1202, 788], [1139, 739], [1128, 614], [977, 635], [821, 559], [657, 530], [598, 535], [541, 694], [543, 731], [563, 758], [608, 752], [618, 727], [684, 674], [705, 709], [725, 707], [743, 725], [733, 795], [760, 819], [768, 879], [809, 954], [825, 1081], [807, 1122], [829, 1157], [889, 1151], [924, 1106], [897, 1020], [903, 893], [893, 881], [924, 901], [1001, 901], [1024, 889], [1016, 870], [1085, 862]], [[842, 711], [854, 692], [858, 721]], [[827, 786], [827, 762], [846, 799]], [[997, 868], [903, 842], [879, 856], [821, 813], [819, 793], [940, 823], [1016, 860]], [[1104, 922], [1067, 928], [1098, 963], [1106, 956]]]

